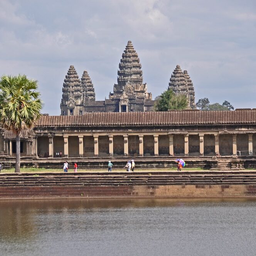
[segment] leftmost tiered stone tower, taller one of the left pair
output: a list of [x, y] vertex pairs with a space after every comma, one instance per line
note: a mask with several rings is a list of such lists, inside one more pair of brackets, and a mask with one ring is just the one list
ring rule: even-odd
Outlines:
[[82, 95], [81, 81], [74, 66], [70, 66], [62, 87], [61, 115], [79, 115]]

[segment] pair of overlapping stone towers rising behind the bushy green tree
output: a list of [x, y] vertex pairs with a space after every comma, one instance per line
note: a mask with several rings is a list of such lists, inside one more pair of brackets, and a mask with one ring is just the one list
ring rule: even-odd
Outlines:
[[168, 89], [172, 89], [175, 94], [185, 95], [189, 101], [189, 108], [195, 109], [195, 91], [193, 83], [187, 71], [182, 71], [177, 65], [170, 77]]

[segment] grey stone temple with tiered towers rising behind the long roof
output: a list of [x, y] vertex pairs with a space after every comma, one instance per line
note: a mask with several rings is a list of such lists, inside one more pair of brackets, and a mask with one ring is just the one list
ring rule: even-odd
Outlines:
[[[168, 89], [172, 89], [175, 94], [187, 96], [188, 108], [195, 109], [193, 83], [187, 71], [183, 72], [179, 65], [173, 71]], [[104, 101], [95, 99], [93, 83], [88, 72], [84, 71], [80, 80], [74, 66], [70, 66], [62, 88], [61, 115], [153, 111], [155, 101], [152, 100], [152, 93], [147, 92], [147, 83], [143, 84], [140, 59], [131, 41], [128, 41], [122, 54], [113, 93], [109, 93], [109, 98]]]

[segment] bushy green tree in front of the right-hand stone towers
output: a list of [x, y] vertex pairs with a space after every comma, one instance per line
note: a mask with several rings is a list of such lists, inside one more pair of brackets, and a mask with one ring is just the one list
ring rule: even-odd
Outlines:
[[172, 90], [164, 91], [157, 96], [154, 106], [155, 111], [181, 110], [188, 108], [188, 99], [184, 95], [176, 95]]

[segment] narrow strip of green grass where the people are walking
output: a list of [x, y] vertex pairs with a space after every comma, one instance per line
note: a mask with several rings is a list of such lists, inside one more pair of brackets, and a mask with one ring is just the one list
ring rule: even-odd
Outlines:
[[[200, 170], [205, 170], [202, 168], [183, 168], [183, 171], [200, 171]], [[69, 172], [73, 172], [74, 169], [73, 168], [69, 168]], [[177, 171], [177, 168], [173, 167], [173, 168], [135, 168], [136, 172], [167, 172], [167, 171]], [[1, 173], [12, 173], [14, 172], [14, 168], [11, 169], [3, 169], [1, 171]], [[59, 169], [45, 169], [45, 168], [20, 168], [20, 172], [21, 173], [27, 173], [27, 172], [63, 172], [63, 169], [59, 168]], [[77, 172], [108, 172], [108, 168], [106, 169], [85, 169], [85, 168], [81, 168], [81, 169], [77, 169]], [[112, 172], [126, 172], [126, 170], [124, 168], [113, 168]]]

